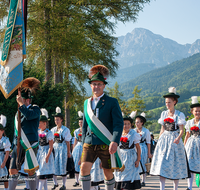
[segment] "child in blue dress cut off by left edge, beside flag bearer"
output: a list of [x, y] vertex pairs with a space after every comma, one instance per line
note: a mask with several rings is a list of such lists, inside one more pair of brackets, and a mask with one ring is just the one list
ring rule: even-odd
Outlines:
[[0, 115], [0, 181], [4, 182], [4, 190], [8, 190], [6, 162], [9, 157], [11, 144], [8, 137], [4, 136], [5, 127], [6, 116]]

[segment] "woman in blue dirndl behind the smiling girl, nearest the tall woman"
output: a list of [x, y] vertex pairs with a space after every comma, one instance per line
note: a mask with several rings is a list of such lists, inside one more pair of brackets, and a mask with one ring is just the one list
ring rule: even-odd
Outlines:
[[152, 158], [151, 155], [151, 135], [150, 132], [147, 128], [144, 127], [144, 124], [146, 123], [146, 118], [145, 118], [145, 113], [141, 113], [141, 115], [137, 115], [135, 117], [135, 126], [136, 128], [134, 129], [140, 136], [140, 148], [141, 148], [141, 167], [142, 167], [142, 172], [141, 178], [142, 178], [142, 183], [141, 186], [145, 186], [145, 179], [146, 179], [146, 163], [148, 158]]

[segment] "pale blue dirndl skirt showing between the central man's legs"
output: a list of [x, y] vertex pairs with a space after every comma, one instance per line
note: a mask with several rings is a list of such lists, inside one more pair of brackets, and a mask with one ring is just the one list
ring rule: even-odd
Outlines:
[[103, 169], [100, 168], [101, 160], [99, 158], [96, 159], [94, 164], [92, 165], [90, 175], [91, 175], [91, 186], [97, 186], [101, 183], [104, 183], [104, 174]]

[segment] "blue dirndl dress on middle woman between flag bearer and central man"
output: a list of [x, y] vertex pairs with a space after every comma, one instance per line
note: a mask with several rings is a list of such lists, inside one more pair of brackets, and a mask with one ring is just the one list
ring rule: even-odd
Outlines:
[[57, 126], [51, 129], [54, 134], [54, 166], [56, 176], [66, 176], [66, 166], [67, 166], [67, 144], [66, 141], [70, 142], [71, 134], [70, 130], [62, 126], [59, 131], [57, 131]]

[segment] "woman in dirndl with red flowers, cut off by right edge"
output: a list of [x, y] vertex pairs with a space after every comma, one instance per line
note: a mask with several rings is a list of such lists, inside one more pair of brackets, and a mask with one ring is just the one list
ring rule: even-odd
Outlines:
[[192, 190], [194, 173], [200, 174], [200, 104], [197, 96], [192, 96], [191, 99], [192, 104], [190, 108], [194, 118], [188, 120], [185, 125], [186, 136], [184, 141], [189, 170], [191, 172], [191, 178], [188, 178], [187, 190]]

